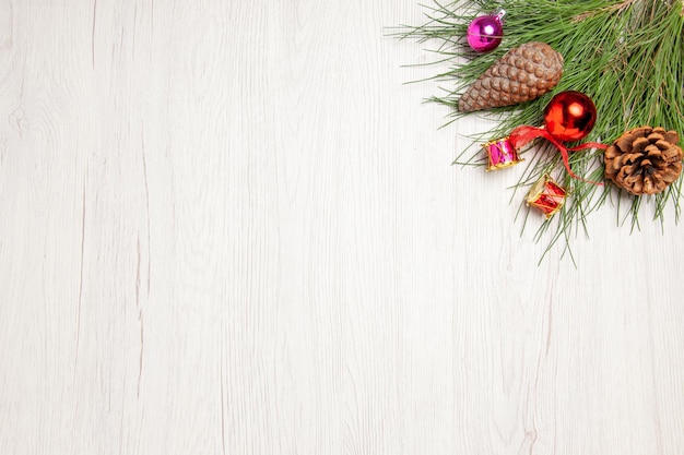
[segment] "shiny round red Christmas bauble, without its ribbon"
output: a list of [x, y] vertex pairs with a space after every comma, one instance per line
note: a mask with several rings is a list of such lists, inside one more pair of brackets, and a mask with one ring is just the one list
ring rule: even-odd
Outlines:
[[544, 109], [544, 125], [549, 134], [562, 142], [586, 137], [597, 121], [597, 107], [580, 92], [561, 92]]

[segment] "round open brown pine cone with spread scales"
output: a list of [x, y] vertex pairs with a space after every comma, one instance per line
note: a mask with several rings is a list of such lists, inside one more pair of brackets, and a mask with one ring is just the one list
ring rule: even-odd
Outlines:
[[677, 142], [676, 131], [664, 128], [629, 130], [605, 151], [605, 178], [632, 194], [660, 193], [682, 172]]

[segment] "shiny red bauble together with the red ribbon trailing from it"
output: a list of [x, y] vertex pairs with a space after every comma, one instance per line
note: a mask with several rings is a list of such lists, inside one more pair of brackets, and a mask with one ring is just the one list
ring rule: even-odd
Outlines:
[[[567, 172], [576, 179], [585, 180], [570, 169], [568, 152], [582, 148], [605, 149], [608, 146], [595, 142], [587, 142], [568, 148], [563, 143], [579, 141], [586, 137], [593, 129], [595, 121], [597, 108], [591, 98], [580, 92], [561, 92], [551, 99], [544, 109], [544, 127], [518, 127], [510, 133], [508, 139], [514, 148], [519, 151], [536, 137], [544, 137], [561, 152]], [[590, 183], [602, 184], [600, 182]]]

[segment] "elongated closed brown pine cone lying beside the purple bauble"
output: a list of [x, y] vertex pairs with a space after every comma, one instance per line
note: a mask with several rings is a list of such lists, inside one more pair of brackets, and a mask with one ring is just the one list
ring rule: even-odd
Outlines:
[[539, 98], [558, 84], [563, 56], [544, 43], [510, 49], [461, 95], [459, 110], [471, 112]]

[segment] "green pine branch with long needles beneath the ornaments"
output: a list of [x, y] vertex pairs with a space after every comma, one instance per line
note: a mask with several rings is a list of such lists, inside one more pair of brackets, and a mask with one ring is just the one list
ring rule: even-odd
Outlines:
[[[551, 97], [568, 89], [586, 93], [597, 106], [595, 125], [585, 141], [610, 144], [625, 131], [646, 124], [675, 130], [684, 136], [682, 0], [511, 0], [505, 4], [468, 0], [435, 2], [424, 8], [426, 23], [402, 26], [396, 36], [435, 45], [431, 49], [438, 58], [435, 63], [449, 65], [433, 77], [444, 87], [440, 95], [429, 99], [450, 109], [447, 125], [467, 115], [457, 110], [464, 88], [509, 49], [542, 41], [563, 55], [563, 77], [553, 93], [522, 105], [492, 109], [490, 116], [499, 120], [498, 127], [487, 132], [486, 137], [477, 137], [480, 142], [505, 136], [521, 124], [541, 125], [542, 112]], [[491, 53], [473, 53], [463, 39], [468, 24], [499, 8], [508, 13], [502, 45]], [[475, 141], [473, 144], [477, 145]], [[554, 153], [547, 143], [536, 144], [524, 152], [529, 163], [514, 191], [526, 190], [551, 173], [571, 193], [563, 209], [544, 221], [535, 236], [539, 240], [544, 232], [553, 232], [546, 252], [563, 241], [564, 252], [571, 256], [571, 238], [579, 231], [588, 235], [587, 216], [606, 202], [615, 207], [618, 224], [628, 221], [632, 229], [639, 228], [642, 202], [654, 203], [654, 219], [664, 223], [667, 208], [671, 207], [679, 220], [682, 178], [661, 194], [633, 196], [608, 183], [599, 187], [570, 178], [557, 151]], [[482, 151], [473, 153], [473, 148], [476, 147], [462, 151], [455, 164], [484, 166]], [[573, 153], [570, 165], [575, 173], [587, 180], [603, 179], [603, 151]]]

